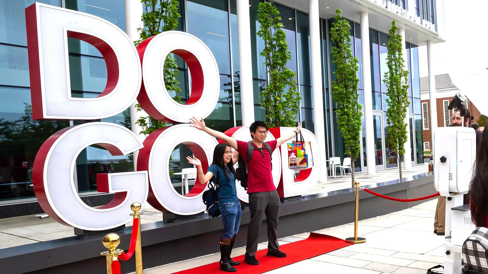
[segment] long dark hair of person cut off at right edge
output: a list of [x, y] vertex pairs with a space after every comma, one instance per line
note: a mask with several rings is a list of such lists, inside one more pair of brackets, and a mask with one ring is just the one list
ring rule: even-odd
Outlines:
[[468, 196], [472, 221], [476, 226], [487, 226], [485, 222], [488, 215], [488, 127], [483, 131], [477, 147], [479, 149], [476, 151]]

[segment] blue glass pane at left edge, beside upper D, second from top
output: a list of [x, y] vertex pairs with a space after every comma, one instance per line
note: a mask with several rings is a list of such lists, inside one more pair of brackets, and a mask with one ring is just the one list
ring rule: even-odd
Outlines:
[[27, 48], [0, 45], [0, 84], [30, 86]]

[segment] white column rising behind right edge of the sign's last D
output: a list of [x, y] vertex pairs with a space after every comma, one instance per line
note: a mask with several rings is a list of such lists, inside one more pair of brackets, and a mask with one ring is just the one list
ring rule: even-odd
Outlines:
[[324, 99], [322, 89], [322, 56], [320, 53], [319, 0], [308, 0], [308, 24], [310, 25], [310, 59], [312, 72], [313, 126], [319, 140], [322, 167], [319, 182], [327, 181], [327, 159], [325, 155]]

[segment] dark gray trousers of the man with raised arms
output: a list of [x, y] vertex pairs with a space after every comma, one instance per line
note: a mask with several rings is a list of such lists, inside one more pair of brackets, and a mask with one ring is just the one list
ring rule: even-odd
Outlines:
[[266, 215], [268, 226], [268, 252], [278, 250], [280, 248], [278, 244], [278, 215], [280, 213], [278, 192], [275, 190], [249, 193], [249, 211], [251, 212], [251, 222], [247, 226], [246, 254], [256, 255], [263, 214]]

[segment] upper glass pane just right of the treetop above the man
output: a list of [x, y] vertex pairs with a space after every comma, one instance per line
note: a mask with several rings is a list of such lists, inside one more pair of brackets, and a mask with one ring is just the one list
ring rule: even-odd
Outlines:
[[291, 60], [286, 62], [286, 67], [298, 75], [297, 41], [295, 37], [295, 10], [280, 4], [274, 4], [280, 12], [283, 30], [286, 33], [286, 42], [288, 42], [288, 50], [291, 52]]

